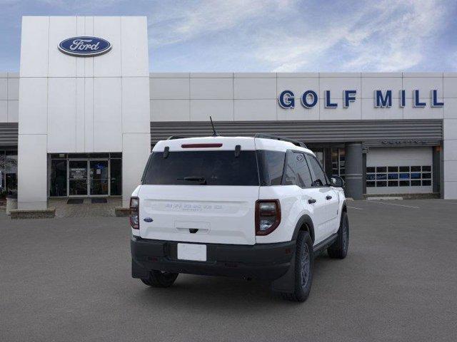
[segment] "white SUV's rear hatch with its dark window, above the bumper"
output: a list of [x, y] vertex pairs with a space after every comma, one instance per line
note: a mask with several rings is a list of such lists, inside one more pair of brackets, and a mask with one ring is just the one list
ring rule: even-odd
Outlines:
[[139, 190], [140, 236], [255, 244], [258, 190], [253, 138], [163, 140], [154, 147]]

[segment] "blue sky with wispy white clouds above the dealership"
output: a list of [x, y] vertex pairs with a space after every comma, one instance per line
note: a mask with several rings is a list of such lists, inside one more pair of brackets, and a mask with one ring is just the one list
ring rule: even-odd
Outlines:
[[0, 0], [0, 71], [24, 15], [147, 16], [151, 72], [457, 71], [456, 0]]

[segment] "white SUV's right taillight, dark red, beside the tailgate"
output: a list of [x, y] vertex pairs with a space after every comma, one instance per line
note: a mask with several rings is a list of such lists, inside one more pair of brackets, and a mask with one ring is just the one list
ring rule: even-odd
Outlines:
[[281, 222], [281, 206], [278, 199], [258, 199], [256, 202], [256, 235], [273, 232]]

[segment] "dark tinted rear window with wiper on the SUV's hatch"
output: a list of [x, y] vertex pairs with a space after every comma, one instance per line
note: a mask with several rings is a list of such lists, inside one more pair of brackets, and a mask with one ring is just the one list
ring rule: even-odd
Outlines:
[[144, 172], [145, 185], [258, 185], [256, 151], [154, 152]]

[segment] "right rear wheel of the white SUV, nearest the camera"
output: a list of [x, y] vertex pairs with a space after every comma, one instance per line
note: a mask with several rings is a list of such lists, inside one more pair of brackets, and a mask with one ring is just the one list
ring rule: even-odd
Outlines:
[[308, 232], [298, 233], [295, 251], [293, 293], [281, 293], [288, 301], [306, 301], [313, 282], [313, 242]]

